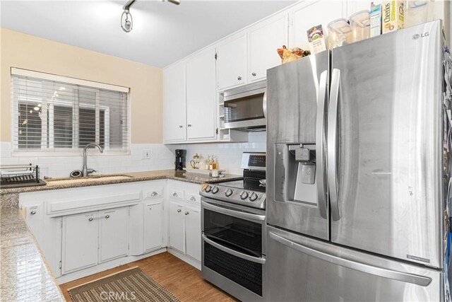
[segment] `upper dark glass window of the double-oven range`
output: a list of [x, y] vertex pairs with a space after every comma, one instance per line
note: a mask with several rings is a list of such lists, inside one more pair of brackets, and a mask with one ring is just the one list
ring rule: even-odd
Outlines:
[[204, 209], [204, 235], [237, 252], [262, 257], [262, 225]]

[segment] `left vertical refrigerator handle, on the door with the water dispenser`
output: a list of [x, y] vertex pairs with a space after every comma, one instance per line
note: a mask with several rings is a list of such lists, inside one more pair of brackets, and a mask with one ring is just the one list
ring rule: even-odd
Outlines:
[[320, 216], [328, 219], [327, 202], [325, 190], [325, 174], [323, 146], [325, 132], [325, 103], [328, 100], [328, 71], [323, 71], [320, 75], [319, 95], [317, 96], [317, 118], [316, 118], [316, 164], [317, 164], [317, 195], [319, 197]]

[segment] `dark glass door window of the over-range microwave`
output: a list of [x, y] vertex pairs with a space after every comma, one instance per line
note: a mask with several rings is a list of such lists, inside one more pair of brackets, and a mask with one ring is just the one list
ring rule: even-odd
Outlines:
[[225, 102], [225, 122], [263, 119], [263, 93]]

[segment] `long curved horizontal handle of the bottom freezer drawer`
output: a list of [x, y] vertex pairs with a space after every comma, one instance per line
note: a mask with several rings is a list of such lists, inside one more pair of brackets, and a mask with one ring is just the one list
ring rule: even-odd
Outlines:
[[299, 243], [295, 243], [292, 240], [288, 240], [273, 232], [269, 232], [269, 234], [271, 239], [276, 240], [289, 248], [293, 248], [294, 250], [297, 250], [309, 256], [316, 257], [317, 259], [331, 262], [334, 265], [340, 265], [341, 267], [355, 269], [359, 272], [364, 272], [366, 274], [373, 274], [374, 276], [408, 282], [420, 286], [427, 286], [430, 284], [430, 282], [432, 282], [432, 279], [429, 277], [424, 277], [417, 274], [410, 274], [408, 272], [400, 272], [393, 269], [385, 269], [383, 267], [376, 267], [374, 265], [369, 265], [367, 263], [348, 260], [342, 257], [337, 257], [335, 255], [330, 255], [320, 250], [314, 250], [313, 248], [309, 248]]

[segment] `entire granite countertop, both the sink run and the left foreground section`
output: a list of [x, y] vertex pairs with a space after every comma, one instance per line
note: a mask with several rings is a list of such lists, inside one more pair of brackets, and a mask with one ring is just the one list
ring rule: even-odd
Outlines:
[[[116, 178], [115, 176], [124, 176]], [[126, 178], [126, 176], [128, 176]], [[20, 214], [19, 194], [44, 190], [87, 187], [93, 185], [112, 185], [125, 182], [147, 180], [180, 180], [202, 184], [223, 180], [241, 179], [241, 175], [225, 175], [211, 178], [205, 175], [186, 173], [185, 171], [157, 170], [102, 175], [107, 180], [60, 182], [69, 178], [47, 179], [47, 185], [37, 187], [20, 187], [0, 190], [0, 299], [1, 301], [65, 301], [57, 281], [40, 252], [35, 238]], [[95, 178], [95, 177], [94, 177]], [[83, 178], [81, 178], [83, 179]], [[55, 182], [52, 184], [52, 181]]]

